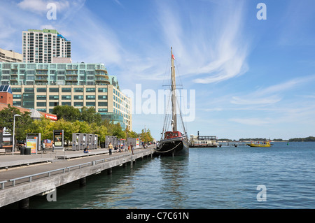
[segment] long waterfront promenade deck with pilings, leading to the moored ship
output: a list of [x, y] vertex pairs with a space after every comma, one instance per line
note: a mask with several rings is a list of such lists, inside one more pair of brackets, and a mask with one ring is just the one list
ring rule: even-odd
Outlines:
[[136, 159], [153, 156], [155, 147], [139, 148], [131, 152], [107, 149], [80, 151], [47, 151], [31, 155], [0, 155], [0, 207], [21, 203], [28, 207], [29, 197], [53, 191], [61, 185], [78, 180], [85, 185], [86, 177], [106, 170], [111, 174], [115, 166], [132, 167]]

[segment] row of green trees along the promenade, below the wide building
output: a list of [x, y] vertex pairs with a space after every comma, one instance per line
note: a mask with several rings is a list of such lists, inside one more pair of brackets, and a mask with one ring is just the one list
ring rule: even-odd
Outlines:
[[52, 139], [54, 130], [64, 130], [64, 140], [71, 141], [73, 133], [97, 134], [99, 141], [105, 141], [106, 136], [117, 136], [118, 138], [141, 138], [144, 142], [153, 141], [151, 131], [148, 129], [141, 134], [123, 128], [119, 123], [111, 120], [102, 120], [95, 108], [83, 107], [80, 110], [73, 106], [56, 106], [52, 113], [57, 115], [57, 121], [41, 117], [40, 120], [32, 120], [29, 112], [21, 113], [18, 108], [8, 105], [0, 111], [0, 128], [6, 127], [9, 134], [13, 134], [13, 117], [15, 114], [15, 136], [16, 139], [26, 138], [27, 133], [41, 133], [42, 139]]

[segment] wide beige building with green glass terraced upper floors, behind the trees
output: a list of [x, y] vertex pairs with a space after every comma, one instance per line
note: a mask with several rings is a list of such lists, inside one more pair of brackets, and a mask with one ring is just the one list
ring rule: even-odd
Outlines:
[[103, 119], [132, 130], [132, 101], [104, 64], [0, 63], [0, 83], [11, 86], [13, 106], [45, 113], [55, 106], [94, 107]]

